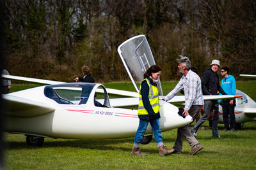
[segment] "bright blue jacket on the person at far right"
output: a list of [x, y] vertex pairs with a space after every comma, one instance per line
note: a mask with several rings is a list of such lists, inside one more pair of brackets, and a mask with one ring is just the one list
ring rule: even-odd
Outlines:
[[236, 94], [236, 80], [234, 76], [228, 75], [227, 78], [221, 80], [221, 88], [229, 95]]

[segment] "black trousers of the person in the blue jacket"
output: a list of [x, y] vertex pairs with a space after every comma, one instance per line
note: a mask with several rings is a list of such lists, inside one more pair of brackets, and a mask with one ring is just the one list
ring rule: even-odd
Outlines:
[[[235, 117], [235, 106], [234, 104], [229, 104], [229, 101], [222, 102], [223, 111], [223, 122], [226, 129], [236, 129], [236, 117]], [[228, 118], [229, 116], [229, 118]], [[229, 120], [229, 121], [228, 121]], [[230, 128], [229, 128], [230, 124]]]

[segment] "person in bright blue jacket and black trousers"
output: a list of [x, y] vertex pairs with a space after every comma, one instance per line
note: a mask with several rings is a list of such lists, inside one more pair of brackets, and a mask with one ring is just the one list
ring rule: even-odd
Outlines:
[[[220, 71], [221, 76], [224, 78], [221, 80], [221, 88], [229, 95], [236, 94], [236, 80], [234, 76], [229, 75], [229, 68], [222, 67]], [[235, 117], [235, 106], [236, 101], [232, 100], [223, 100], [221, 102], [223, 110], [223, 122], [224, 122], [224, 131], [236, 131], [236, 117]], [[229, 115], [229, 118], [228, 118]], [[229, 121], [228, 121], [229, 119]], [[229, 122], [229, 123], [228, 123]], [[230, 127], [229, 127], [230, 124]]]

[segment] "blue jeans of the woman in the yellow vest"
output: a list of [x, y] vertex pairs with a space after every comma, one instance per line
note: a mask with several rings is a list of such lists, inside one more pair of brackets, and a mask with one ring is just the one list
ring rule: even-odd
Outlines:
[[154, 138], [156, 140], [156, 143], [163, 142], [163, 137], [161, 135], [161, 127], [159, 123], [159, 118], [156, 118], [154, 120], [140, 120], [139, 127], [137, 129], [137, 132], [134, 136], [134, 143], [141, 143], [141, 139], [143, 138], [143, 135], [147, 129], [148, 122], [150, 122], [150, 125], [152, 127], [152, 132], [154, 134]]

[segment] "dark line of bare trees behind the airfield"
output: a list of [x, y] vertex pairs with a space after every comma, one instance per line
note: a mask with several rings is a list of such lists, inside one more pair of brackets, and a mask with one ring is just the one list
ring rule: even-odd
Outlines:
[[70, 82], [81, 66], [97, 82], [129, 81], [117, 52], [145, 34], [161, 80], [177, 80], [186, 55], [202, 76], [212, 59], [256, 73], [254, 0], [4, 1], [5, 67], [11, 74]]

